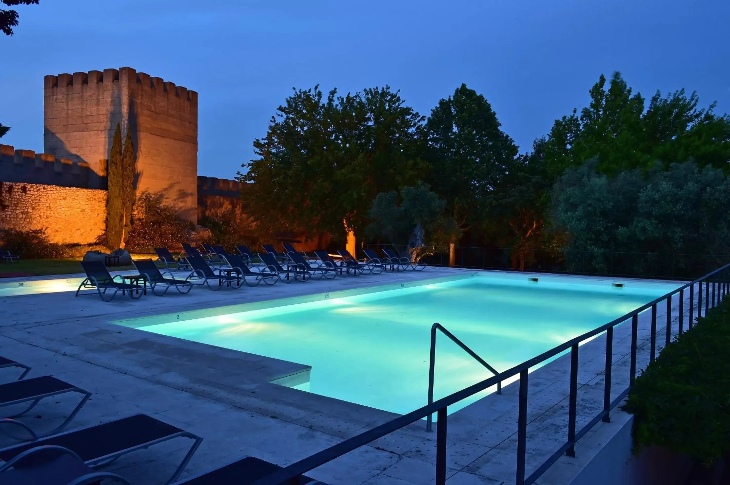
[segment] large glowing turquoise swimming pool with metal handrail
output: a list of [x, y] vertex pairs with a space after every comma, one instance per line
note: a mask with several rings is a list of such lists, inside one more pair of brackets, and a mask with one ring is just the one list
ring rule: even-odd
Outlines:
[[[270, 300], [228, 314], [147, 317], [123, 325], [311, 365], [309, 381], [289, 385], [404, 414], [426, 404], [434, 322], [496, 370], [507, 370], [678, 286], [622, 283], [564, 276], [532, 282], [524, 274], [478, 272], [410, 287]], [[434, 399], [490, 376], [439, 334]]]

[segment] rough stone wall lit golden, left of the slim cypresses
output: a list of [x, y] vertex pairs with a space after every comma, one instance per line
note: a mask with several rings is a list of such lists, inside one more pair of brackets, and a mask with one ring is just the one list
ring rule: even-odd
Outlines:
[[0, 229], [45, 229], [58, 244], [96, 241], [106, 208], [106, 190], [0, 182]]

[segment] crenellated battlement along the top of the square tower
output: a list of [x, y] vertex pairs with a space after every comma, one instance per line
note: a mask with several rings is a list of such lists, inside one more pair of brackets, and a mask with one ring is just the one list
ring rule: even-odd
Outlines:
[[50, 74], [43, 79], [43, 88], [46, 96], [54, 96], [57, 90], [73, 88], [73, 90], [85, 90], [84, 86], [104, 85], [110, 86], [114, 83], [125, 82], [127, 85], [139, 85], [139, 88], [154, 90], [158, 94], [172, 95], [185, 101], [198, 102], [198, 93], [188, 90], [183, 86], [177, 86], [174, 82], [165, 81], [161, 77], [152, 77], [145, 72], [137, 72], [131, 67], [119, 69], [104, 69], [104, 71], [74, 72], [74, 74]]

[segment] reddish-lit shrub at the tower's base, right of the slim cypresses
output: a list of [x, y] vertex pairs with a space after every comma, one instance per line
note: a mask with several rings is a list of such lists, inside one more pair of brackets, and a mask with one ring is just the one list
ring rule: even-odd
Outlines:
[[153, 247], [175, 247], [188, 241], [195, 225], [177, 214], [173, 206], [163, 203], [161, 192], [142, 192], [134, 204], [132, 228], [125, 248], [147, 251]]

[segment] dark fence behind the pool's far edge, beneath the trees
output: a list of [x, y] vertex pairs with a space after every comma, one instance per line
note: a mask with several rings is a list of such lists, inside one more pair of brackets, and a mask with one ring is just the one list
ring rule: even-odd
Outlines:
[[[380, 252], [386, 244], [368, 244]], [[396, 247], [400, 252], [405, 245]], [[694, 279], [712, 268], [730, 263], [730, 255], [685, 255], [656, 252], [519, 250], [506, 247], [457, 247], [456, 267], [537, 273], [575, 273], [596, 276], [628, 276], [657, 279]], [[431, 266], [448, 266], [449, 252], [421, 259]]]

